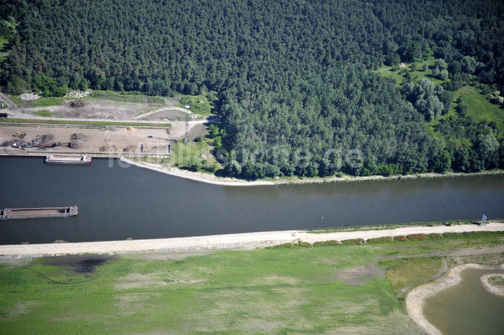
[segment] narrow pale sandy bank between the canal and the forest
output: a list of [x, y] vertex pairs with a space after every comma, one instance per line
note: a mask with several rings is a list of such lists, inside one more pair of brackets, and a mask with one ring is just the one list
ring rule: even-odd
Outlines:
[[164, 167], [153, 163], [136, 162], [124, 157], [119, 157], [119, 160], [123, 163], [169, 174], [171, 176], [223, 186], [324, 184], [324, 183], [338, 183], [338, 182], [362, 182], [362, 181], [379, 181], [379, 180], [403, 180], [403, 179], [407, 180], [407, 179], [421, 179], [421, 178], [431, 179], [431, 178], [449, 178], [449, 177], [465, 177], [465, 176], [469, 177], [469, 176], [484, 176], [484, 175], [504, 175], [504, 170], [492, 170], [492, 171], [481, 171], [473, 173], [432, 172], [432, 173], [409, 174], [404, 176], [394, 175], [389, 177], [376, 175], [376, 176], [360, 176], [360, 177], [327, 177], [327, 178], [305, 178], [305, 179], [289, 179], [289, 180], [243, 180], [231, 177], [217, 177], [213, 174], [187, 171], [175, 167]]

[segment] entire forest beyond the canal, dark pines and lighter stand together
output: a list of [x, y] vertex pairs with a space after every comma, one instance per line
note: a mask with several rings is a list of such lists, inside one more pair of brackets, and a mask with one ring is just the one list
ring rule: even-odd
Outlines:
[[[2, 0], [0, 18], [4, 90], [215, 91], [217, 147], [258, 156], [267, 175], [478, 171], [502, 160], [495, 127], [463, 112], [460, 124], [436, 125], [444, 138], [424, 127], [463, 83], [504, 85], [501, 2]], [[409, 79], [398, 90], [369, 73], [432, 56], [442, 86]], [[273, 169], [272, 147], [313, 157]], [[362, 164], [325, 168], [327, 148], [361, 150]], [[264, 166], [240, 171], [262, 177]]]

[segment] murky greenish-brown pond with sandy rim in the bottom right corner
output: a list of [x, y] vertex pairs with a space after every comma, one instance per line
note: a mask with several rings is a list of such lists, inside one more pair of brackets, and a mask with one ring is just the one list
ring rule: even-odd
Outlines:
[[443, 335], [501, 335], [504, 297], [485, 290], [480, 277], [504, 271], [466, 269], [459, 284], [425, 300], [427, 320]]

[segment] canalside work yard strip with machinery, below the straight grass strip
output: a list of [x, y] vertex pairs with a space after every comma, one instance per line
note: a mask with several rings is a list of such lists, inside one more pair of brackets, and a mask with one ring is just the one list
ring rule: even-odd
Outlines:
[[[199, 133], [203, 126], [200, 123], [191, 129], [187, 127], [187, 139]], [[162, 127], [6, 125], [0, 128], [0, 150], [7, 155], [34, 156], [45, 156], [51, 152], [93, 156], [166, 156], [170, 154], [173, 143], [185, 141], [185, 124], [179, 127], [179, 131], [172, 131]]]

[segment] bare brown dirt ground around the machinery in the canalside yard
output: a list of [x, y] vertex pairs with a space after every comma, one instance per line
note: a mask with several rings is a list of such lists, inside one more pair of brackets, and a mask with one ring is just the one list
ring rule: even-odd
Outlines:
[[[63, 127], [42, 127], [42, 126], [2, 126], [0, 127], [0, 146], [9, 144], [19, 138], [13, 137], [13, 133], [20, 131], [26, 133], [23, 139], [31, 142], [35, 136], [50, 139], [51, 142], [66, 143], [71, 140], [77, 142], [76, 148], [55, 147], [48, 148], [45, 152], [112, 152], [112, 153], [140, 153], [141, 145], [144, 146], [144, 153], [167, 154], [168, 144], [173, 143], [173, 135], [168, 135], [165, 128], [145, 129], [135, 128], [130, 131], [124, 127], [110, 126], [105, 128], [63, 128]], [[72, 136], [74, 136], [72, 139]], [[147, 136], [152, 136], [148, 139]], [[167, 141], [167, 140], [171, 141]], [[37, 148], [26, 148], [25, 150], [7, 147], [5, 153], [13, 155], [24, 155], [26, 151], [35, 152]]]

